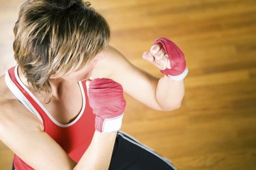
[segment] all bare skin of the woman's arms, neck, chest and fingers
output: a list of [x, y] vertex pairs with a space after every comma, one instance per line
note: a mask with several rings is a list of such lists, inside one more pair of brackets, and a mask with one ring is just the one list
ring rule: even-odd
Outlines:
[[[149, 52], [143, 53], [143, 58], [160, 69], [169, 67], [168, 57], [159, 46], [153, 46]], [[20, 69], [18, 75], [31, 88]], [[90, 76], [111, 78], [122, 84], [124, 92], [134, 99], [161, 111], [177, 109], [184, 96], [183, 80], [174, 82], [167, 76], [155, 78], [131, 65], [121, 53], [110, 46], [81, 71], [58, 79], [51, 76], [53, 99], [50, 103], [44, 103], [44, 93], [34, 95], [55, 120], [67, 124], [76, 118], [82, 107], [81, 91], [77, 82]], [[134, 88], [134, 84], [137, 88]], [[68, 105], [70, 102], [72, 104]], [[108, 169], [116, 132], [105, 134], [96, 131], [89, 148], [76, 164], [44, 132], [42, 122], [14, 97], [5, 84], [4, 75], [0, 77], [0, 105], [1, 141], [34, 169]]]

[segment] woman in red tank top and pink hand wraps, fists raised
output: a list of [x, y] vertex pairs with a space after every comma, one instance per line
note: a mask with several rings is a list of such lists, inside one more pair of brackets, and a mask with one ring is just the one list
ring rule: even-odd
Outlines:
[[118, 131], [123, 89], [152, 109], [180, 107], [188, 69], [173, 42], [143, 53], [165, 74], [155, 78], [108, 46], [106, 20], [79, 0], [26, 1], [14, 35], [17, 65], [0, 78], [0, 139], [13, 169], [175, 169]]

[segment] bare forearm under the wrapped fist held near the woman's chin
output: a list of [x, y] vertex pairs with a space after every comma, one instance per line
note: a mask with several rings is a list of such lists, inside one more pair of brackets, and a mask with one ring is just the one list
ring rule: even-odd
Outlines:
[[89, 148], [74, 169], [109, 169], [116, 135], [117, 132], [100, 133], [95, 131]]

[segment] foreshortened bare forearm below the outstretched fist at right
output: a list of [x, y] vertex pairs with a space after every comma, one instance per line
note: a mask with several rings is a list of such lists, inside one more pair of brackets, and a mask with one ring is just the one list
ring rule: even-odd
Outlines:
[[170, 111], [180, 107], [184, 97], [184, 80], [173, 81], [166, 75], [158, 80], [156, 100], [162, 110]]

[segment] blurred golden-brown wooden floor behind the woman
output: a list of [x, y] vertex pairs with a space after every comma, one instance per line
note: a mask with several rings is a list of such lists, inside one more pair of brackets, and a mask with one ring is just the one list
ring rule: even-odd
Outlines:
[[[23, 1], [0, 0], [0, 73], [14, 65], [12, 27]], [[111, 44], [160, 75], [141, 54], [160, 36], [186, 54], [182, 107], [156, 112], [127, 97], [122, 130], [183, 170], [256, 169], [255, 0], [94, 0]], [[18, 141], [18, 139], [17, 139]], [[12, 152], [0, 143], [0, 169]]]

